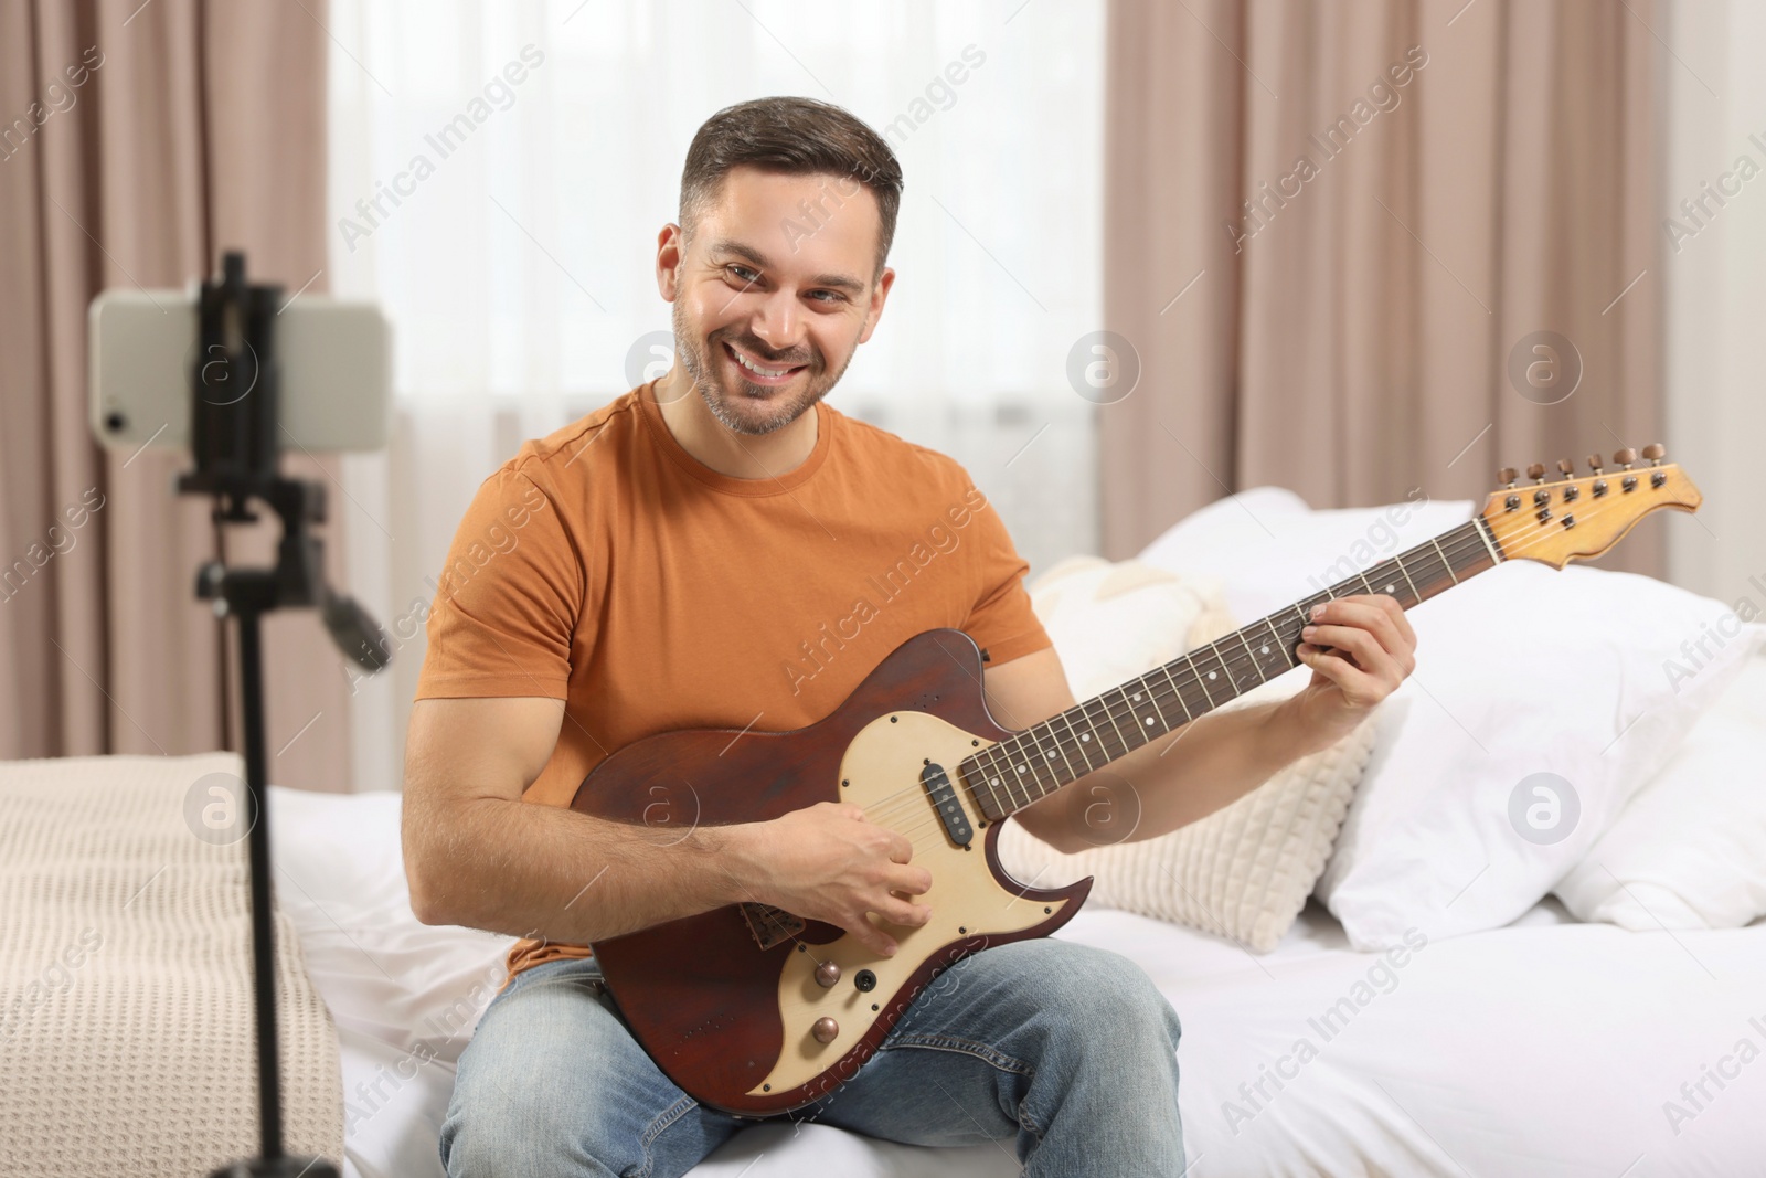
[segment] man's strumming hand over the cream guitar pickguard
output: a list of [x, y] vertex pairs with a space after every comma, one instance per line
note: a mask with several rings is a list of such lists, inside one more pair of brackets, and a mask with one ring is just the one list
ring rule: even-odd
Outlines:
[[731, 827], [740, 874], [752, 899], [805, 920], [823, 920], [851, 933], [879, 955], [895, 952], [895, 938], [865, 918], [920, 927], [932, 917], [920, 895], [932, 872], [909, 867], [913, 844], [865, 818], [851, 802], [818, 802], [763, 823]]

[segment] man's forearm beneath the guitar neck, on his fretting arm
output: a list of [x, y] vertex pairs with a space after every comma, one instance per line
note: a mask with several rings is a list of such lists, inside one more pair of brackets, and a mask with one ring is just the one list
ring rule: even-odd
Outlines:
[[[1312, 749], [1280, 703], [1211, 712], [1058, 789], [1019, 814], [1063, 851], [1139, 842], [1231, 805]], [[1123, 827], [1134, 828], [1123, 835]]]

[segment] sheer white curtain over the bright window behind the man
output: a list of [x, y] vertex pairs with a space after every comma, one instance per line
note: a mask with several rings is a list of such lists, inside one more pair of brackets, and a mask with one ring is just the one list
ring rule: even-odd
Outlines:
[[351, 588], [394, 632], [355, 782], [399, 781], [422, 613], [479, 482], [666, 367], [652, 277], [687, 143], [766, 94], [837, 102], [906, 173], [879, 330], [830, 394], [964, 463], [1035, 569], [1095, 549], [1104, 4], [332, 0], [330, 290], [397, 332], [390, 454], [346, 463]]

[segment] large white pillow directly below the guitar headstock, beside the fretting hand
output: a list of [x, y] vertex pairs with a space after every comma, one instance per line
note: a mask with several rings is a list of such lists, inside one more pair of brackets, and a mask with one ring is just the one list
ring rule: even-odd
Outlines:
[[1423, 602], [1416, 673], [1319, 880], [1349, 941], [1476, 933], [1536, 904], [1759, 646], [1766, 631], [1740, 625], [1671, 678], [1725, 613], [1649, 578], [1531, 562]]

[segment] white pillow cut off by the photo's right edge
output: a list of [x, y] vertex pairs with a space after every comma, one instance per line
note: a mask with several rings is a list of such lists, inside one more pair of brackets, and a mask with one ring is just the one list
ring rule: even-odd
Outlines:
[[1738, 929], [1766, 915], [1766, 659], [1694, 724], [1554, 888], [1582, 920]]

